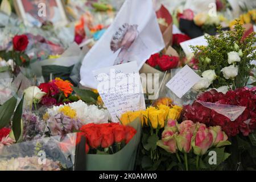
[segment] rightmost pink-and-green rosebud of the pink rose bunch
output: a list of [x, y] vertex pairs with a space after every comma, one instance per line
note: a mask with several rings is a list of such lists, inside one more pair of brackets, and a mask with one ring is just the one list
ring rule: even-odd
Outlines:
[[209, 131], [213, 135], [213, 146], [214, 147], [222, 147], [231, 144], [228, 141], [228, 136], [224, 131], [221, 130], [220, 126], [210, 126]]

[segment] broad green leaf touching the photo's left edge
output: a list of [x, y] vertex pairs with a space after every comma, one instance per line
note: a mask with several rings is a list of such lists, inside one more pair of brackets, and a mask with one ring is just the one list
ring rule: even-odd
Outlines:
[[11, 97], [0, 107], [0, 129], [5, 127], [11, 120], [11, 116], [14, 113], [17, 100], [15, 97]]

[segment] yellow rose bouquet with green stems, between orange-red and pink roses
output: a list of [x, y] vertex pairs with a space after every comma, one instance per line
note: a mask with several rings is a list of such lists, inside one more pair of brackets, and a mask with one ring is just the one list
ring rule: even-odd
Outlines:
[[170, 98], [160, 98], [156, 100], [154, 106], [147, 107], [146, 110], [128, 111], [123, 113], [120, 121], [127, 125], [135, 118], [142, 121], [142, 140], [139, 154], [140, 169], [156, 170], [161, 168], [161, 163], [165, 158], [160, 154], [156, 142], [160, 138], [160, 133], [168, 119], [179, 119], [182, 107], [172, 105]]

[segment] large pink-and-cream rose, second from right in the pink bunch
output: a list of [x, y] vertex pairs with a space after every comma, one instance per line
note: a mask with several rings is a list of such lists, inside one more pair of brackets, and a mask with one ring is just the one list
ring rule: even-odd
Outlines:
[[193, 135], [192, 146], [196, 155], [204, 155], [213, 144], [213, 135], [202, 123], [197, 123], [197, 131]]

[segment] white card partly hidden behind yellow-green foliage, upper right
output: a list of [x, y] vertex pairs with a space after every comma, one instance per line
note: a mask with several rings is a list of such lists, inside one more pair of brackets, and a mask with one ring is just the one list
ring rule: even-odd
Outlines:
[[207, 46], [207, 40], [204, 38], [204, 35], [199, 36], [198, 38], [187, 40], [180, 43], [181, 48], [185, 52], [185, 55], [190, 55], [193, 53], [192, 48], [189, 46]]

